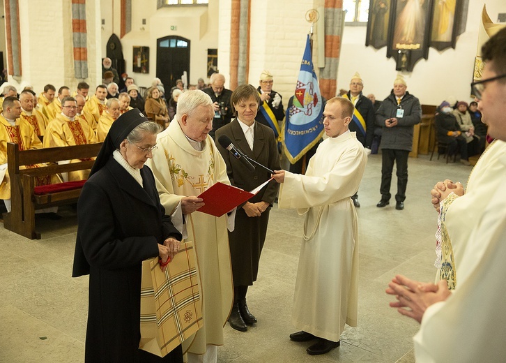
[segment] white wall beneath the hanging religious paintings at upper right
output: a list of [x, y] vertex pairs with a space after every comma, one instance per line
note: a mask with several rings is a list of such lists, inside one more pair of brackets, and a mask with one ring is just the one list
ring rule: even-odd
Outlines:
[[[443, 52], [430, 48], [429, 59], [418, 61], [412, 73], [402, 73], [408, 91], [420, 98], [420, 103], [439, 105], [448, 96], [470, 101], [470, 82], [484, 3], [493, 21], [497, 20], [498, 13], [506, 13], [504, 0], [470, 0], [466, 31], [459, 36], [456, 48]], [[365, 47], [365, 36], [365, 27], [344, 29], [337, 89], [349, 89], [351, 77], [358, 71], [364, 81], [363, 92], [383, 99], [390, 94], [397, 75], [395, 60], [386, 57], [386, 47], [381, 50]]]

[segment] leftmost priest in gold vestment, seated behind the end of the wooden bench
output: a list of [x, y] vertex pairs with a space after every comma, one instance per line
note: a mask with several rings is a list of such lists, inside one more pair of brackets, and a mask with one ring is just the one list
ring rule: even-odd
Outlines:
[[[3, 101], [3, 113], [0, 115], [0, 165], [7, 163], [7, 142], [16, 143], [20, 150], [43, 148], [30, 124], [19, 118], [20, 114], [20, 101], [15, 97], [6, 97]], [[49, 177], [40, 184], [50, 184]], [[0, 199], [10, 200], [10, 179], [7, 171], [0, 181]], [[10, 212], [10, 203], [6, 205]]]

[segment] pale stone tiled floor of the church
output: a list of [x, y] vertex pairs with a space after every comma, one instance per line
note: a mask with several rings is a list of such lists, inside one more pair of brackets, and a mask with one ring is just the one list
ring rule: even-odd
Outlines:
[[[392, 203], [379, 209], [381, 156], [369, 156], [359, 191], [358, 327], [347, 327], [341, 347], [323, 356], [309, 356], [305, 353], [309, 343], [288, 339], [295, 331], [290, 316], [302, 218], [295, 211], [275, 207], [259, 280], [248, 293], [250, 309], [259, 323], [245, 333], [227, 324], [218, 361], [414, 362], [411, 337], [417, 323], [388, 307], [386, 284], [397, 273], [422, 281], [434, 279], [436, 213], [429, 191], [446, 177], [465, 183], [470, 170], [460, 163], [429, 161], [427, 156], [411, 158], [406, 208], [397, 211]], [[395, 186], [392, 191], [395, 193]], [[69, 208], [60, 213], [60, 221], [38, 217], [43, 235], [38, 241], [0, 227], [1, 363], [84, 360], [88, 279], [70, 277], [76, 218]]]

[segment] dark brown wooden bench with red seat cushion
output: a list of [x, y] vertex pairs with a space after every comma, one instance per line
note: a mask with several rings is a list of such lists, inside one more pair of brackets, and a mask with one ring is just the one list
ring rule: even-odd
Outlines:
[[[35, 211], [58, 205], [76, 203], [84, 182], [64, 182], [36, 187], [36, 177], [62, 172], [91, 169], [94, 160], [79, 163], [54, 164], [72, 159], [89, 159], [98, 155], [102, 143], [69, 147], [51, 147], [20, 151], [17, 144], [7, 143], [7, 168], [10, 177], [12, 210], [3, 214], [3, 227], [29, 239], [40, 239], [35, 229]], [[38, 168], [21, 168], [24, 165], [44, 164]]]

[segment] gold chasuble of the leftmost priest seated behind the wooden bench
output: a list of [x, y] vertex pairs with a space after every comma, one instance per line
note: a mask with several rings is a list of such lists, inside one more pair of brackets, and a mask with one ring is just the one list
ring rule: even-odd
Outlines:
[[[38, 139], [33, 128], [23, 119], [16, 119], [15, 126], [0, 115], [0, 165], [7, 163], [7, 142], [14, 142], [20, 150], [42, 149], [42, 142]], [[38, 166], [38, 165], [33, 165]], [[26, 165], [31, 168], [31, 165]], [[51, 184], [49, 176], [38, 177], [36, 185]], [[10, 199], [10, 179], [8, 171], [0, 184], [0, 199]]]

